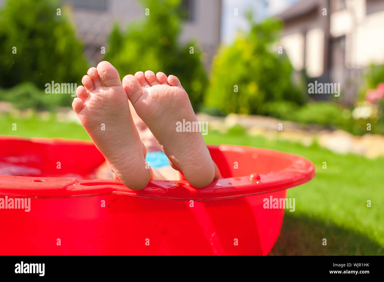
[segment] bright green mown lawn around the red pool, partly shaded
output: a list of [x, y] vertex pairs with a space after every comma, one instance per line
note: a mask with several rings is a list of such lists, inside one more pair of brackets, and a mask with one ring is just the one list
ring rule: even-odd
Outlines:
[[[12, 130], [13, 124], [17, 130]], [[0, 134], [24, 137], [87, 139], [81, 125], [41, 120], [35, 115], [14, 118], [0, 115]], [[316, 165], [314, 180], [288, 190], [295, 198], [295, 212], [285, 214], [280, 237], [271, 255], [383, 255], [384, 254], [384, 158], [369, 160], [339, 155], [317, 144], [270, 141], [241, 132], [235, 135], [209, 132], [211, 144], [238, 144], [271, 148], [302, 155]], [[327, 168], [323, 169], [323, 162]], [[367, 207], [367, 200], [371, 207]], [[323, 246], [323, 238], [327, 246]]]

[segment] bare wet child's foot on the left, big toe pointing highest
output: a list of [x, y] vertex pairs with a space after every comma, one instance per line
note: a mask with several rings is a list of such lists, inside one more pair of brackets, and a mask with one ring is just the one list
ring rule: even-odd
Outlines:
[[118, 71], [103, 61], [81, 82], [72, 103], [81, 124], [119, 180], [132, 190], [144, 188], [151, 172]]

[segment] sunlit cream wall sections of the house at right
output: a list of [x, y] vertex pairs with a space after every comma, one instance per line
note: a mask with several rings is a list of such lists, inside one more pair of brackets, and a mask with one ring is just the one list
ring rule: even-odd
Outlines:
[[[321, 66], [321, 59], [314, 57], [324, 56], [326, 51], [319, 50], [321, 40], [327, 40], [325, 27], [321, 11], [285, 22], [281, 45], [296, 70], [305, 67], [310, 76], [319, 76], [324, 66]], [[329, 33], [331, 39], [345, 36], [346, 67], [364, 68], [370, 63], [383, 64], [384, 1], [346, 1], [345, 9], [331, 13]]]

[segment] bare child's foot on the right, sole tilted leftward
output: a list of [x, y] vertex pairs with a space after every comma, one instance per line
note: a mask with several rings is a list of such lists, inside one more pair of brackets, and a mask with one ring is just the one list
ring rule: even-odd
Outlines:
[[[160, 82], [160, 83], [159, 83]], [[137, 115], [146, 123], [170, 165], [196, 187], [214, 179], [215, 168], [201, 132], [177, 132], [177, 122], [197, 122], [188, 94], [177, 77], [152, 71], [123, 78], [122, 84]]]

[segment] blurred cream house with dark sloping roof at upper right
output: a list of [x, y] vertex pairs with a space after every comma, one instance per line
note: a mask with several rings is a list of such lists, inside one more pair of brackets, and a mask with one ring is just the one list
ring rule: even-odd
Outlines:
[[284, 23], [280, 43], [295, 70], [306, 69], [313, 81], [340, 83], [344, 104], [356, 100], [364, 69], [384, 63], [383, 0], [301, 0], [278, 18]]

